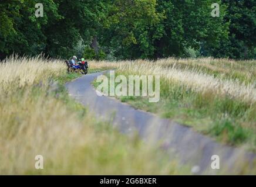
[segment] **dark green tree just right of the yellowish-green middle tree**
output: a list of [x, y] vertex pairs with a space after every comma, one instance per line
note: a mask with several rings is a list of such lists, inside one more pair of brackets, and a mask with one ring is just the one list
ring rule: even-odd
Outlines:
[[218, 46], [227, 38], [228, 23], [223, 23], [225, 6], [221, 6], [220, 18], [211, 17], [211, 4], [220, 1], [208, 0], [159, 0], [159, 11], [166, 12], [160, 23], [163, 37], [156, 40], [156, 57], [183, 56], [186, 49]]

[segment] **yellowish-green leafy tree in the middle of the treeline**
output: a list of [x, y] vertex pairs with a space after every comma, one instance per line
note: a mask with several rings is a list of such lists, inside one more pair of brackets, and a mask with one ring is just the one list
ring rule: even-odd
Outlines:
[[156, 0], [114, 0], [108, 27], [101, 33], [101, 44], [109, 46], [118, 58], [153, 56], [151, 32], [163, 17], [156, 12]]

